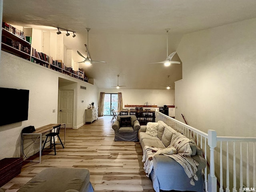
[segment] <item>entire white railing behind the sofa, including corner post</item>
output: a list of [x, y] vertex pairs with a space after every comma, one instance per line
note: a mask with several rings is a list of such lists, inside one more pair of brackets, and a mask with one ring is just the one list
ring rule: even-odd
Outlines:
[[217, 177], [220, 192], [224, 191], [224, 186], [226, 192], [230, 192], [230, 186], [233, 186], [232, 192], [237, 188], [239, 192], [256, 190], [256, 138], [219, 137], [215, 130], [205, 133], [156, 111], [156, 122], [158, 120], [193, 139], [202, 149], [206, 164], [209, 162], [210, 166], [203, 171], [206, 192], [217, 191]]

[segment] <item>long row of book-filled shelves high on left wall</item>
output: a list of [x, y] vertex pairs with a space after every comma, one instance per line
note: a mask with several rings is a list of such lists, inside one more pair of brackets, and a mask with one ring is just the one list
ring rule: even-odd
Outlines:
[[74, 71], [72, 67], [66, 67], [62, 60], [53, 60], [51, 56], [42, 52], [37, 52], [34, 48], [31, 50], [31, 48], [30, 42], [26, 41], [24, 32], [14, 28], [10, 24], [5, 22], [2, 23], [1, 49], [3, 51], [39, 64], [40, 66], [88, 82], [88, 78], [85, 76], [82, 68], [79, 68], [78, 71]]

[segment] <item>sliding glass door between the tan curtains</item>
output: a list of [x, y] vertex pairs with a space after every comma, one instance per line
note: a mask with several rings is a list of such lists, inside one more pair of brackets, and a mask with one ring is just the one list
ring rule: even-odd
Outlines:
[[112, 109], [117, 110], [118, 94], [105, 93], [104, 99], [104, 115], [112, 115]]

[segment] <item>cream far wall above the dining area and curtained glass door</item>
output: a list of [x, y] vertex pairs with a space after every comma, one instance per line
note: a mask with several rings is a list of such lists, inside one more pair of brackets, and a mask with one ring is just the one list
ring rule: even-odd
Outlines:
[[[124, 105], [174, 105], [174, 90], [150, 90], [150, 89], [99, 89], [105, 93], [122, 93]], [[99, 97], [100, 98], [100, 97]]]

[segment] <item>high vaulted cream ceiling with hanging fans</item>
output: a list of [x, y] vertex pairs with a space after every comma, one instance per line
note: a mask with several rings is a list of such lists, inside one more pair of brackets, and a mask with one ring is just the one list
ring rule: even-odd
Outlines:
[[90, 56], [107, 64], [80, 67], [99, 88], [113, 88], [119, 74], [126, 89], [165, 89], [168, 75], [170, 85], [182, 79], [182, 63], [149, 64], [166, 59], [165, 28], [170, 54], [184, 34], [255, 18], [255, 10], [255, 0], [4, 0], [3, 21], [75, 31], [75, 38], [64, 36], [75, 62], [83, 60], [76, 50], [86, 56], [85, 28], [91, 28]]

